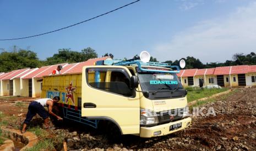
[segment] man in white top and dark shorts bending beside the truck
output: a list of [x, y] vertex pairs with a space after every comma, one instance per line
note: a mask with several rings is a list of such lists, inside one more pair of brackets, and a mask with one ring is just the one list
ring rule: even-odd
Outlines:
[[35, 100], [29, 104], [28, 113], [26, 114], [26, 119], [23, 123], [23, 127], [21, 133], [26, 131], [26, 126], [29, 124], [30, 120], [37, 114], [40, 115], [41, 118], [45, 121], [45, 129], [49, 127], [48, 125], [48, 113], [44, 107], [48, 107], [48, 112], [56, 117], [58, 120], [62, 120], [61, 117], [52, 112], [53, 103], [58, 102], [60, 100], [59, 96], [55, 96], [51, 98], [40, 98]]

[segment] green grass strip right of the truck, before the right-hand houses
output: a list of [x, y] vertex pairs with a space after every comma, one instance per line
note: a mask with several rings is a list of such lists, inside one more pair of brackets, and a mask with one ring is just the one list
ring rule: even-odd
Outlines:
[[193, 88], [186, 88], [186, 89], [192, 90], [192, 91], [188, 91], [188, 95], [187, 95], [188, 102], [198, 100], [203, 97], [209, 97], [214, 94], [228, 90], [228, 88], [222, 88], [222, 89], [206, 89], [205, 88], [205, 89], [201, 89], [201, 90], [193, 90]]

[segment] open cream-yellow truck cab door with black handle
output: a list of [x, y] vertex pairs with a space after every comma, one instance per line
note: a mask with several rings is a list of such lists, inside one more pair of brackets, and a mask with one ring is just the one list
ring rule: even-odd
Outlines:
[[130, 89], [132, 74], [123, 66], [83, 68], [82, 116], [115, 123], [123, 134], [140, 131], [139, 94]]

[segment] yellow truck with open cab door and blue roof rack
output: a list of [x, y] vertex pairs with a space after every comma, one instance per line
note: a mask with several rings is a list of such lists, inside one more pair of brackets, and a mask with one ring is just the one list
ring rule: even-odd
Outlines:
[[60, 96], [64, 119], [95, 128], [107, 121], [123, 135], [162, 136], [191, 123], [178, 72], [166, 63], [98, 61], [80, 74], [44, 77], [42, 97]]

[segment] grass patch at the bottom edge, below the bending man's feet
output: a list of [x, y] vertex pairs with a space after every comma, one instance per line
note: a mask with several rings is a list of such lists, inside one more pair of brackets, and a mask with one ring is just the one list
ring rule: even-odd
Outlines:
[[37, 151], [37, 150], [54, 150], [53, 140], [52, 139], [45, 139], [39, 141], [35, 146], [32, 148], [26, 149], [26, 151]]

